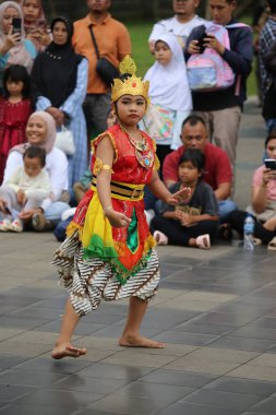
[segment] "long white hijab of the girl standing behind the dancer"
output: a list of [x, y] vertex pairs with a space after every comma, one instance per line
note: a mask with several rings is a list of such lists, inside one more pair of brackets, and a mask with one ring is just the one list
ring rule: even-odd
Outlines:
[[192, 109], [192, 97], [179, 40], [172, 34], [159, 36], [155, 44], [158, 40], [169, 46], [171, 60], [167, 66], [156, 61], [146, 72], [144, 80], [149, 81], [151, 102], [171, 110], [189, 111]]

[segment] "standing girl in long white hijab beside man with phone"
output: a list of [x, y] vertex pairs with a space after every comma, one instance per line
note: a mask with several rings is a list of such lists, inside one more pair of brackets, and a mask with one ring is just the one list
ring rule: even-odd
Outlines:
[[177, 36], [160, 36], [155, 43], [154, 56], [156, 62], [144, 78], [149, 81], [151, 105], [142, 128], [156, 141], [163, 166], [165, 156], [182, 145], [181, 126], [192, 109], [192, 98]]

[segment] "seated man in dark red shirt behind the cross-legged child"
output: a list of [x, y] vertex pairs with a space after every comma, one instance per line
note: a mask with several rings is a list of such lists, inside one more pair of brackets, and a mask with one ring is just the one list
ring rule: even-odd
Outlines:
[[165, 158], [163, 168], [165, 183], [169, 187], [178, 181], [179, 159], [187, 149], [201, 150], [205, 156], [203, 180], [214, 190], [220, 222], [224, 222], [229, 212], [237, 209], [233, 201], [227, 200], [231, 193], [232, 173], [226, 152], [208, 142], [205, 123], [199, 116], [190, 116], [184, 120], [181, 139], [183, 145]]

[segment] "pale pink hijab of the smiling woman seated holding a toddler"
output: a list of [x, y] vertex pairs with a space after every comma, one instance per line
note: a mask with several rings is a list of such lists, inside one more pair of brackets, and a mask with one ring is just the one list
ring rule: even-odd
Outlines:
[[[52, 151], [55, 141], [56, 141], [56, 134], [57, 134], [56, 121], [52, 118], [52, 116], [46, 111], [35, 111], [28, 118], [27, 124], [35, 116], [40, 117], [46, 122], [45, 141], [38, 144], [37, 146], [40, 149], [44, 149], [46, 153], [49, 154]], [[19, 152], [21, 154], [24, 154], [25, 150], [28, 146], [29, 146], [29, 143], [15, 145], [14, 147], [11, 149], [11, 152]]]

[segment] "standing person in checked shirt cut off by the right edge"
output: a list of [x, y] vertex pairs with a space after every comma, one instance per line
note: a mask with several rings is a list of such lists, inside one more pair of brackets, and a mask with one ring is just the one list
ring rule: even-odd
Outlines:
[[260, 35], [260, 66], [263, 93], [263, 117], [267, 131], [276, 127], [276, 0], [267, 1], [271, 16]]

